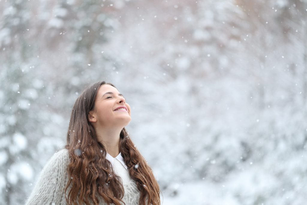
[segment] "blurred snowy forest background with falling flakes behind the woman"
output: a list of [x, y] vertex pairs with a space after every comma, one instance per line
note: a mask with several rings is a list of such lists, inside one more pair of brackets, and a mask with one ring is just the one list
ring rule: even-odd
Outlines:
[[109, 81], [163, 204], [307, 201], [306, 0], [0, 0], [0, 204]]

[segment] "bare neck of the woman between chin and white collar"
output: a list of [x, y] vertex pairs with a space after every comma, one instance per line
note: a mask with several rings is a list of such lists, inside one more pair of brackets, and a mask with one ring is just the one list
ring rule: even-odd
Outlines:
[[119, 154], [119, 134], [122, 131], [122, 128], [95, 128], [95, 130], [97, 141], [107, 148], [107, 153], [112, 157], [116, 157]]

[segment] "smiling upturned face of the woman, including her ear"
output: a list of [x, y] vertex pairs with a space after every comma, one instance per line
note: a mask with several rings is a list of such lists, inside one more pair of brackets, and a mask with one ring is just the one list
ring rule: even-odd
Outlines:
[[90, 115], [95, 117], [95, 123], [101, 127], [124, 128], [131, 121], [130, 111], [130, 106], [122, 94], [115, 87], [104, 84], [98, 90], [95, 108], [90, 111]]

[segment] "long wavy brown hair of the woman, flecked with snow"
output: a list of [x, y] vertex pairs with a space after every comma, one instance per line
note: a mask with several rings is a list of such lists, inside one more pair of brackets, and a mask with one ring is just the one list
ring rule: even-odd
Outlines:
[[[101, 85], [96, 82], [77, 98], [69, 121], [67, 144], [70, 164], [69, 180], [65, 188], [68, 205], [99, 204], [100, 195], [107, 204], [121, 205], [124, 188], [121, 178], [114, 173], [111, 162], [106, 160], [107, 150], [96, 138], [95, 129], [87, 116], [95, 107], [95, 99]], [[125, 128], [120, 133], [119, 151], [128, 167], [129, 175], [140, 191], [140, 205], [160, 205], [160, 189], [150, 166], [135, 148]], [[66, 196], [68, 187], [71, 189]]]

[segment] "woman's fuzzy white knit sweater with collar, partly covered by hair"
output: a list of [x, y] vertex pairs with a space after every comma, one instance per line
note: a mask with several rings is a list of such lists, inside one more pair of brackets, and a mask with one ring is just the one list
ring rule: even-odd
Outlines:
[[[111, 161], [115, 173], [122, 178], [125, 195], [122, 200], [126, 205], [137, 205], [140, 192], [136, 182], [131, 179], [126, 165], [123, 162], [121, 153], [115, 158], [107, 154]], [[67, 149], [56, 152], [47, 162], [41, 171], [33, 191], [27, 199], [26, 205], [62, 205], [67, 204], [65, 200], [65, 187], [68, 183], [68, 173], [66, 171], [69, 164], [69, 154]], [[68, 190], [69, 191], [69, 190]], [[67, 195], [68, 192], [66, 192]], [[98, 196], [99, 204], [105, 205], [103, 198]]]

